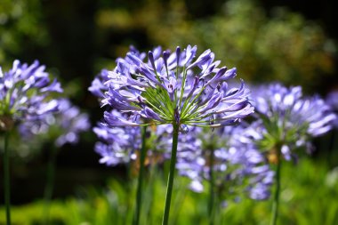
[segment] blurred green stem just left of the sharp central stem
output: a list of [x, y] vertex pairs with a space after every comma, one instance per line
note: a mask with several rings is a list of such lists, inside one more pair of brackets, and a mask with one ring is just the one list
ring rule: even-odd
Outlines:
[[137, 191], [136, 191], [136, 210], [135, 210], [135, 215], [134, 215], [134, 220], [133, 220], [134, 225], [139, 225], [140, 223], [142, 182], [144, 179], [144, 161], [147, 155], [146, 133], [147, 133], [147, 126], [143, 126], [141, 130], [142, 146], [141, 146], [141, 154], [140, 154], [141, 156], [140, 156], [139, 179], [138, 179]]

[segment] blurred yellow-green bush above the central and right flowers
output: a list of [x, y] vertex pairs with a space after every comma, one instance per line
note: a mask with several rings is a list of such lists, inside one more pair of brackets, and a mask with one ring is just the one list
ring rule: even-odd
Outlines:
[[[160, 7], [155, 1], [133, 17], [125, 10], [112, 9], [99, 12], [97, 21], [106, 29], [141, 28], [150, 43], [171, 49], [187, 44], [210, 48], [229, 68], [237, 67], [246, 81], [278, 80], [313, 91], [326, 84], [325, 76], [333, 75], [334, 41], [298, 13], [278, 7], [268, 17], [251, 0], [228, 1], [215, 14], [197, 19], [187, 10], [185, 4]], [[107, 17], [110, 23], [104, 20]]]

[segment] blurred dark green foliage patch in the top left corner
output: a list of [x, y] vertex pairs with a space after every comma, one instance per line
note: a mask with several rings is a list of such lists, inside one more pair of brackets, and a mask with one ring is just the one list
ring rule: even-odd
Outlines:
[[[43, 20], [42, 5], [38, 0], [11, 1], [0, 4], [0, 63], [10, 66], [13, 59], [37, 58], [50, 43]], [[33, 55], [36, 54], [36, 57]], [[32, 57], [33, 56], [33, 57]]]

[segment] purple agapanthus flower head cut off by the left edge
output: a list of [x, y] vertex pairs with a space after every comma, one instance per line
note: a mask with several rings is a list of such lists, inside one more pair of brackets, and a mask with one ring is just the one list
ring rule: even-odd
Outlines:
[[33, 64], [14, 60], [12, 68], [0, 68], [0, 125], [6, 130], [8, 121], [38, 121], [45, 114], [58, 109], [58, 100], [49, 98], [50, 92], [62, 92], [60, 83], [52, 82], [36, 60]]

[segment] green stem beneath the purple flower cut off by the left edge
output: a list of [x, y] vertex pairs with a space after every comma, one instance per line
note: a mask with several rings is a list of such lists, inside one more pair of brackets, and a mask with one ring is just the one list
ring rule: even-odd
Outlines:
[[4, 205], [6, 207], [7, 225], [11, 225], [11, 183], [10, 183], [10, 156], [8, 142], [10, 132], [4, 134]]

